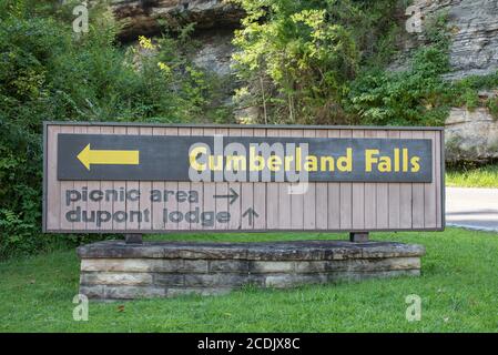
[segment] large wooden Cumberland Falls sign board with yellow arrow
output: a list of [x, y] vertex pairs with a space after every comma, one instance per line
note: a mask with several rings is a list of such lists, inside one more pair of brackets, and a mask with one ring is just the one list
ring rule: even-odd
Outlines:
[[45, 122], [43, 229], [443, 230], [443, 133]]

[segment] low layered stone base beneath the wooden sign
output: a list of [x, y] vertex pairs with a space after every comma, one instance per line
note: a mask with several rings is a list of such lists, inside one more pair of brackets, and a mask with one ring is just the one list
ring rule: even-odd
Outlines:
[[105, 241], [78, 248], [80, 293], [98, 300], [212, 295], [243, 285], [292, 287], [311, 283], [418, 276], [421, 245], [392, 242], [272, 243]]

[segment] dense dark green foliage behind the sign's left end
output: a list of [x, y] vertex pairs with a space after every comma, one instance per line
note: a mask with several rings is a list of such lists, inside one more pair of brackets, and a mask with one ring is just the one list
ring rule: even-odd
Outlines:
[[106, 8], [91, 11], [77, 36], [72, 3], [0, 0], [0, 257], [53, 245], [40, 235], [42, 121], [185, 122], [211, 101], [189, 60], [193, 26], [124, 49]]

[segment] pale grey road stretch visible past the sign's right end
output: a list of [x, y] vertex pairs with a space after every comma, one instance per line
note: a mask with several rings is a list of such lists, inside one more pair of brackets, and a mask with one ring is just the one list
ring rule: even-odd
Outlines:
[[446, 225], [498, 232], [498, 189], [446, 187]]

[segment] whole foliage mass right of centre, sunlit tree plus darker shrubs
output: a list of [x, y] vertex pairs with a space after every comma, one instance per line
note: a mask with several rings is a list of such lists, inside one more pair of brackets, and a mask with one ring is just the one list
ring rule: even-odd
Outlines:
[[396, 1], [236, 0], [247, 12], [234, 54], [247, 87], [236, 99], [266, 123], [441, 125], [450, 106], [487, 106], [478, 91], [498, 75], [451, 82], [447, 13], [426, 19], [425, 45], [393, 70], [400, 29]]

